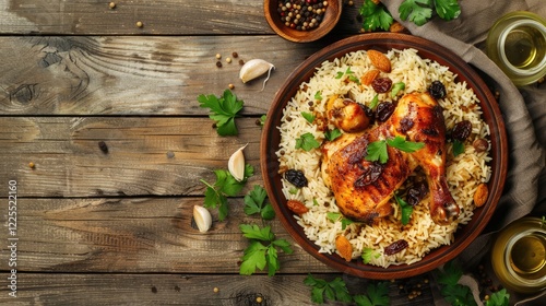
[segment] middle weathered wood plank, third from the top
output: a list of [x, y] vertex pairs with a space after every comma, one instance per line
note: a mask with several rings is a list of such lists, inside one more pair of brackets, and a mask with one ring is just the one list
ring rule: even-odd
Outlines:
[[[213, 121], [173, 117], [2, 117], [0, 177], [20, 197], [203, 195], [240, 146], [261, 183], [256, 118], [238, 118], [238, 137], [219, 137]], [[98, 143], [104, 141], [108, 153]], [[28, 166], [35, 164], [35, 168]], [[0, 195], [7, 195], [7, 189]]]

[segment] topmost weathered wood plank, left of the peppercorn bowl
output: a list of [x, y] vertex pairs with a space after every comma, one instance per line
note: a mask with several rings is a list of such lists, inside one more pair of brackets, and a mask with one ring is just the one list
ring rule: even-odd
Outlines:
[[[240, 35], [273, 34], [256, 0], [112, 1], [5, 0], [1, 34]], [[357, 33], [354, 15], [361, 1], [344, 7], [341, 31]], [[136, 22], [143, 26], [138, 27]]]

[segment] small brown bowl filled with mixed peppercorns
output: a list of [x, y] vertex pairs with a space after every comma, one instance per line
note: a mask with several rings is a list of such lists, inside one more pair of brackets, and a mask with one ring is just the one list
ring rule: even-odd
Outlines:
[[296, 43], [314, 42], [337, 24], [342, 0], [265, 0], [265, 20], [281, 37]]

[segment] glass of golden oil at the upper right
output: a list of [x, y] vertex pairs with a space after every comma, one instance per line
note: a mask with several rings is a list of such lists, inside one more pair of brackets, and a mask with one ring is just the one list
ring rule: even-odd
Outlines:
[[489, 31], [487, 55], [515, 85], [546, 75], [546, 21], [531, 12], [506, 14]]

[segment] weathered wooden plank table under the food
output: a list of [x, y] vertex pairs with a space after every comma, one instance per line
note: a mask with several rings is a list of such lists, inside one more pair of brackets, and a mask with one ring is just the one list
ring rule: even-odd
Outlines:
[[[256, 120], [306, 57], [359, 33], [360, 4], [344, 7], [333, 34], [295, 44], [271, 31], [262, 1], [0, 1], [0, 304], [306, 305], [308, 273], [361, 291], [366, 280], [297, 245], [275, 276], [239, 275], [238, 266], [248, 246], [238, 225], [260, 221], [242, 212], [242, 196], [263, 183]], [[276, 67], [263, 91], [261, 80], [238, 79], [238, 59], [253, 58]], [[240, 134], [219, 137], [197, 96], [230, 83], [245, 101]], [[228, 219], [213, 210], [212, 229], [200, 233], [191, 224], [200, 179], [214, 181], [246, 143], [257, 173], [229, 199]], [[393, 305], [410, 303], [399, 290], [406, 281], [391, 284]], [[432, 304], [430, 286], [422, 291], [412, 304]]]

